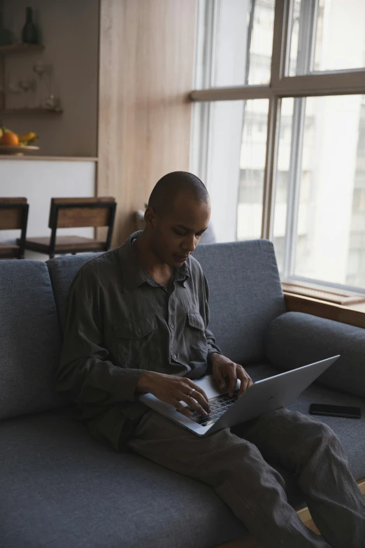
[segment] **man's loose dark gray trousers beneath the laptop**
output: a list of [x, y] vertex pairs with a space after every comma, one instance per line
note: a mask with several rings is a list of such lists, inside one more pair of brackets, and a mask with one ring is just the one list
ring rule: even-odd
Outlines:
[[[282, 407], [198, 437], [150, 410], [127, 444], [212, 486], [263, 548], [365, 548], [364, 496], [338, 437], [317, 419]], [[293, 473], [321, 535], [303, 525], [265, 458]]]

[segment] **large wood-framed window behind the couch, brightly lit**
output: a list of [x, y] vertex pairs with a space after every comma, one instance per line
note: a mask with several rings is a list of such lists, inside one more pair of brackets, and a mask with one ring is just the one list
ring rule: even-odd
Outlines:
[[218, 241], [365, 293], [365, 2], [198, 0], [191, 169]]

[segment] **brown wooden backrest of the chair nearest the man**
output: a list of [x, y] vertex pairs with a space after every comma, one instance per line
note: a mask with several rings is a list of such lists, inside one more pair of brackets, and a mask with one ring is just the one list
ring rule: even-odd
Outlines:
[[110, 227], [114, 223], [115, 198], [52, 198], [48, 226], [55, 228]]

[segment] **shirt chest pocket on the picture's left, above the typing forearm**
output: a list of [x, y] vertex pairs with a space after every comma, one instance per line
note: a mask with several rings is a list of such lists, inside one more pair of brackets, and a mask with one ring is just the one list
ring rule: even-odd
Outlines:
[[156, 318], [123, 320], [115, 323], [115, 354], [122, 367], [152, 369], [157, 358]]

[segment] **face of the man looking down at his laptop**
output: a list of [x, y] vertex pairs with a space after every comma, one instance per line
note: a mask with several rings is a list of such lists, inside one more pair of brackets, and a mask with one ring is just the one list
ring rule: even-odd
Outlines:
[[153, 212], [152, 251], [170, 267], [183, 266], [199, 244], [209, 218], [210, 204], [199, 203], [189, 192], [182, 192], [163, 216]]

